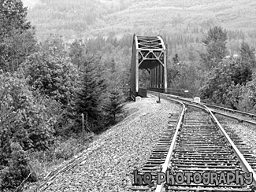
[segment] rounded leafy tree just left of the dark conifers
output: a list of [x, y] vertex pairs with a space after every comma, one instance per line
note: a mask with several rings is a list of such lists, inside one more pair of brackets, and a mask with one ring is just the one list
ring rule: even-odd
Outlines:
[[75, 98], [79, 72], [69, 60], [45, 52], [32, 54], [24, 62], [21, 72], [32, 90], [39, 90], [50, 98], [69, 105]]

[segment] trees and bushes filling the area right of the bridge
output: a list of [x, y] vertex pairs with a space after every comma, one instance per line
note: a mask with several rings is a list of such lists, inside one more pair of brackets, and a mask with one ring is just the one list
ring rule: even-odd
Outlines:
[[214, 26], [195, 59], [184, 61], [174, 55], [169, 61], [169, 87], [190, 90], [191, 97], [200, 96], [205, 102], [256, 113], [255, 48], [242, 41], [238, 53], [232, 54], [227, 42], [228, 31]]

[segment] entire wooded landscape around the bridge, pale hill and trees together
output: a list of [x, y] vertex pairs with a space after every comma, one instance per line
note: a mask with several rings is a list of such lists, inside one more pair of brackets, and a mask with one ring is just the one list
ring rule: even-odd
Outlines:
[[24, 2], [0, 0], [1, 191], [42, 179], [125, 116], [133, 33], [165, 39], [169, 88], [256, 113], [254, 1]]

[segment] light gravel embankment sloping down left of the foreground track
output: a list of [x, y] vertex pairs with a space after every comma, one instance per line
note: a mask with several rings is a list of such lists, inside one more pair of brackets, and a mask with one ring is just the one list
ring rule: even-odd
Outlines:
[[135, 169], [141, 168], [167, 127], [169, 113], [180, 113], [180, 105], [156, 98], [143, 98], [126, 107], [136, 109], [112, 127], [87, 150], [82, 164], [57, 178], [45, 191], [129, 191]]

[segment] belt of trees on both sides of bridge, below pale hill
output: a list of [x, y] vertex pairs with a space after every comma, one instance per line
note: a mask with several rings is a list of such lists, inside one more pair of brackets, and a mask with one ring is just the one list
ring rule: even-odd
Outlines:
[[[50, 35], [38, 42], [26, 16], [20, 1], [0, 0], [2, 191], [22, 188], [24, 179], [39, 179], [33, 156], [39, 157], [37, 161], [45, 154], [49, 159], [71, 157], [75, 146], [67, 150], [60, 144], [80, 140], [82, 114], [88, 133], [116, 124], [130, 79], [132, 35], [117, 38], [110, 33], [72, 42]], [[201, 29], [193, 28], [203, 34]], [[183, 34], [163, 38], [170, 50], [169, 88], [256, 112], [254, 48], [242, 42], [239, 57], [229, 49], [232, 39], [243, 39], [243, 32], [213, 27], [204, 39]], [[140, 72], [140, 77], [145, 74]], [[147, 84], [147, 78], [140, 79]]]

